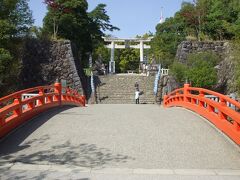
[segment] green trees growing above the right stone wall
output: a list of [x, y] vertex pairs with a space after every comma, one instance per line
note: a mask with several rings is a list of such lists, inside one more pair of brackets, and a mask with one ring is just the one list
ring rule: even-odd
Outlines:
[[[240, 38], [239, 0], [195, 0], [183, 2], [174, 17], [156, 26], [151, 54], [164, 67], [174, 62], [184, 40], [210, 41]], [[174, 65], [175, 67], [176, 65]]]

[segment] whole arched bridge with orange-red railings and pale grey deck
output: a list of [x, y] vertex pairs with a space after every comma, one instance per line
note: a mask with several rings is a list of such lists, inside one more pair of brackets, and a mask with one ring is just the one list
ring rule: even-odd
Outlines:
[[164, 107], [85, 101], [59, 83], [1, 98], [0, 179], [240, 178], [228, 96], [185, 84]]

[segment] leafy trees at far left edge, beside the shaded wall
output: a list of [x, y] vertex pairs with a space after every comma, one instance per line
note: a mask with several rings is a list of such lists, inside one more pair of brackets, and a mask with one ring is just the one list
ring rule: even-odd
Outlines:
[[28, 0], [0, 1], [0, 96], [17, 88], [21, 46], [32, 23]]

